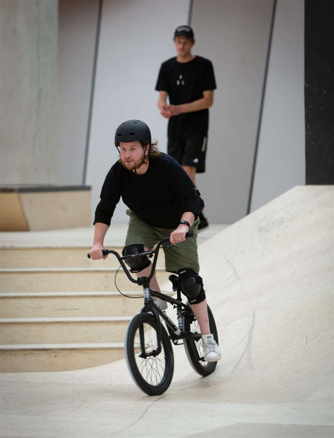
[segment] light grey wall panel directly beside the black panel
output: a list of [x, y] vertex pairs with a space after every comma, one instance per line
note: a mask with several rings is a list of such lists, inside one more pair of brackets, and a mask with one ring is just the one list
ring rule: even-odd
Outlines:
[[251, 211], [305, 184], [304, 0], [278, 0]]

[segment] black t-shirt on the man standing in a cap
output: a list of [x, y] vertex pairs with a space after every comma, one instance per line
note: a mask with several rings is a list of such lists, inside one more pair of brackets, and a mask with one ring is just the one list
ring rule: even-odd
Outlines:
[[[216, 89], [213, 65], [210, 60], [196, 56], [185, 63], [175, 58], [165, 61], [156, 83], [157, 91], [167, 91], [172, 105], [190, 103], [203, 98], [203, 91]], [[207, 134], [209, 109], [172, 116], [168, 123], [168, 137], [187, 138], [189, 134]]]

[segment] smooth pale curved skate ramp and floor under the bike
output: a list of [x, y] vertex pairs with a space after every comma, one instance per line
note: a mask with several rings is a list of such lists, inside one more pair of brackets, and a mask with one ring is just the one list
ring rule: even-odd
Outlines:
[[4, 374], [2, 436], [332, 437], [333, 186], [295, 187], [199, 254], [223, 350], [213, 374], [183, 346], [158, 397], [124, 360]]

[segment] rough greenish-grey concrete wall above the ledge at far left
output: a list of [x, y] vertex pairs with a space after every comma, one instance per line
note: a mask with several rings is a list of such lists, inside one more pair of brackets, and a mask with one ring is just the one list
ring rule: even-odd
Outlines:
[[56, 183], [57, 0], [2, 0], [0, 27], [1, 184]]

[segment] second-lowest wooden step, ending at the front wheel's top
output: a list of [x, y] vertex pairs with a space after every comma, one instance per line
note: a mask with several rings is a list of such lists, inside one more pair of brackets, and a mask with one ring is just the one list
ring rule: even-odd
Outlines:
[[123, 342], [131, 317], [2, 318], [1, 344]]

